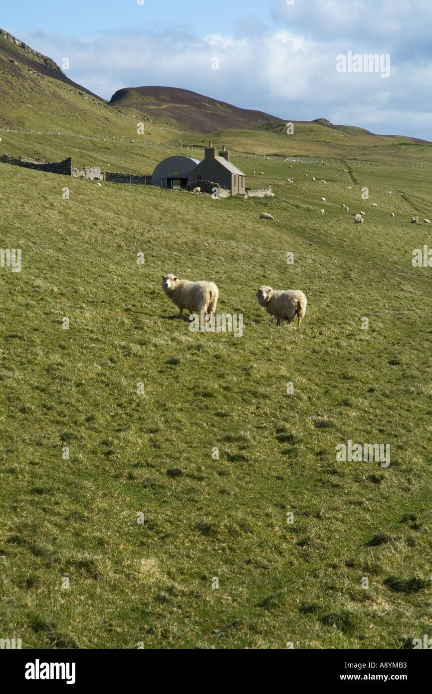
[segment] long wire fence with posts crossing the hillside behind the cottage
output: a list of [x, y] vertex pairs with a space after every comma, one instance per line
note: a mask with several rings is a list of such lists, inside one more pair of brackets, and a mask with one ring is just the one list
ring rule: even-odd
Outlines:
[[[165, 149], [181, 149], [190, 152], [204, 153], [205, 148], [195, 144], [183, 144], [182, 142], [155, 142], [153, 139], [128, 139], [127, 137], [101, 137], [98, 135], [85, 135], [84, 133], [73, 133], [71, 130], [26, 130], [20, 128], [0, 128], [3, 133], [17, 133], [18, 135], [58, 135], [60, 137], [80, 137], [82, 139], [98, 140], [99, 142], [121, 142], [121, 144], [132, 145], [148, 145], [153, 147], [164, 147]], [[256, 159], [270, 162], [291, 162], [299, 164], [345, 164], [351, 167], [396, 167], [401, 169], [432, 169], [432, 164], [412, 164], [411, 162], [403, 163], [385, 163], [385, 162], [368, 162], [359, 159], [336, 159], [322, 157], [299, 157], [286, 156], [279, 154], [254, 154], [252, 152], [237, 152], [230, 150], [232, 157], [239, 159]]]

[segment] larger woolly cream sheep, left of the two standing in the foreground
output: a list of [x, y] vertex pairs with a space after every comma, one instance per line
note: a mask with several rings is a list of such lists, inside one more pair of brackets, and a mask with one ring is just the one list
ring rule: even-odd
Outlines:
[[175, 275], [162, 275], [162, 289], [180, 309], [180, 317], [184, 309], [190, 314], [204, 311], [206, 321], [216, 310], [219, 290], [214, 282], [190, 282], [179, 280]]

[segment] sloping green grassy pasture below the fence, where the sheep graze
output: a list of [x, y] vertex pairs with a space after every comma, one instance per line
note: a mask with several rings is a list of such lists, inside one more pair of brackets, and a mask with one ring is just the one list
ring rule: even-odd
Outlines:
[[[165, 155], [59, 140], [2, 147], [117, 171]], [[431, 227], [410, 223], [431, 219], [430, 174], [234, 163], [275, 197], [0, 164], [1, 247], [22, 249], [21, 272], [0, 269], [0, 636], [23, 648], [397, 649], [432, 632], [431, 269], [411, 262]], [[216, 281], [243, 337], [191, 332], [169, 272]], [[261, 311], [264, 283], [304, 291], [300, 330]], [[348, 439], [390, 444], [390, 466], [337, 462]]]

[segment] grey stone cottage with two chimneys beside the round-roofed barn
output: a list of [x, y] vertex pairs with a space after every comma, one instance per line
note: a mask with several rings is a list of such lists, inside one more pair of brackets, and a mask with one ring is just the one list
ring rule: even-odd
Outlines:
[[211, 142], [205, 148], [204, 159], [189, 171], [187, 180], [188, 183], [196, 181], [198, 185], [200, 180], [209, 180], [229, 190], [232, 195], [245, 193], [245, 174], [230, 162], [230, 153], [225, 150], [225, 146], [217, 157]]

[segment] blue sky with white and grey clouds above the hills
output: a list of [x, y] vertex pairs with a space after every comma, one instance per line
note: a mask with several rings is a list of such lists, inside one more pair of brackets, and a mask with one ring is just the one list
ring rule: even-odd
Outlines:
[[[105, 99], [182, 87], [287, 120], [432, 140], [432, 0], [142, 1], [20, 0], [0, 26], [60, 66], [69, 58], [67, 75]], [[390, 75], [338, 71], [348, 51], [390, 56]]]

